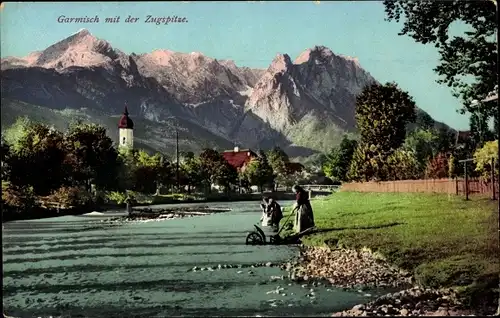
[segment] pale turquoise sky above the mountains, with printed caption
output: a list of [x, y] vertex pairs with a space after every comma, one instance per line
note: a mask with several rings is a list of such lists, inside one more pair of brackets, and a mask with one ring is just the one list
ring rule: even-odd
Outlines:
[[[155, 49], [201, 52], [238, 66], [267, 68], [278, 53], [295, 59], [324, 45], [335, 54], [356, 57], [379, 82], [396, 82], [435, 120], [468, 129], [460, 100], [436, 83], [439, 54], [432, 45], [398, 36], [401, 25], [384, 20], [381, 1], [302, 2], [67, 2], [2, 3], [2, 57], [43, 50], [81, 28], [125, 53]], [[152, 17], [186, 18], [156, 25]], [[58, 18], [99, 17], [99, 23], [60, 23]], [[105, 18], [120, 16], [118, 23]], [[136, 23], [125, 22], [136, 17]]]

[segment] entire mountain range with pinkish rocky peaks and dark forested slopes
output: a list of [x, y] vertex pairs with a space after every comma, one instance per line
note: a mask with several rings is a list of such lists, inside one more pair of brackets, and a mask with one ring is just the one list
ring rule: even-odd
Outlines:
[[59, 129], [80, 119], [105, 125], [117, 141], [127, 105], [134, 143], [151, 151], [172, 151], [178, 130], [183, 151], [280, 146], [292, 157], [355, 134], [356, 96], [377, 82], [357, 59], [324, 46], [293, 61], [280, 53], [267, 69], [254, 69], [199, 52], [128, 55], [85, 29], [43, 51], [3, 58], [1, 70], [2, 127], [22, 115]]

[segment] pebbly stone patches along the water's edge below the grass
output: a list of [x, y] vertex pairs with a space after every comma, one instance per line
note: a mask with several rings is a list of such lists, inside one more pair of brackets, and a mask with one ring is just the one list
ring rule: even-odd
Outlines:
[[[301, 246], [298, 260], [282, 265], [295, 281], [322, 280], [335, 287], [357, 289], [393, 287], [398, 292], [332, 316], [467, 316], [474, 314], [452, 289], [423, 289], [414, 285], [410, 273], [388, 264], [369, 250]], [[412, 286], [414, 285], [414, 286]], [[367, 294], [369, 296], [369, 294]]]

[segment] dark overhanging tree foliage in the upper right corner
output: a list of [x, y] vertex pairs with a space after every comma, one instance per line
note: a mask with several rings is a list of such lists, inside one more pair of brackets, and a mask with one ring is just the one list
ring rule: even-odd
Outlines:
[[[464, 102], [465, 112], [475, 112], [473, 100], [483, 99], [498, 82], [496, 2], [493, 1], [403, 1], [385, 0], [388, 21], [400, 22], [399, 35], [416, 42], [433, 44], [441, 56], [434, 71], [438, 83], [451, 87]], [[467, 31], [451, 36], [453, 23], [461, 22]], [[487, 117], [496, 117], [496, 105], [481, 109]]]

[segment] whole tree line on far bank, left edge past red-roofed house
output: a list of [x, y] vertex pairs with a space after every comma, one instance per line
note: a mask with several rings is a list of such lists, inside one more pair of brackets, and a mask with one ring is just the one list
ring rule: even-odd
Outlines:
[[275, 188], [291, 185], [300, 174], [288, 169], [287, 154], [275, 148], [260, 151], [243, 171], [237, 171], [216, 150], [198, 156], [183, 153], [177, 165], [169, 156], [143, 150], [117, 149], [106, 129], [95, 124], [72, 123], [60, 132], [20, 118], [2, 136], [4, 202], [28, 197], [77, 196], [101, 191], [133, 190], [153, 194], [161, 188], [211, 192], [217, 185], [226, 192], [250, 186]]

